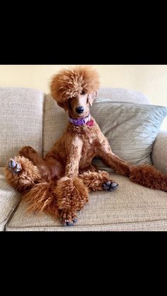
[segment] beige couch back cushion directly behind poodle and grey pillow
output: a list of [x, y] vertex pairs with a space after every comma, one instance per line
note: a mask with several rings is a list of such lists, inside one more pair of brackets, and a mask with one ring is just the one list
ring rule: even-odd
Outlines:
[[[142, 93], [124, 88], [100, 88], [96, 102], [103, 103], [104, 100], [109, 102], [137, 102], [141, 104], [149, 104], [149, 99]], [[96, 105], [93, 105], [96, 112]], [[93, 109], [92, 108], [92, 109]], [[98, 118], [95, 116], [98, 120]], [[68, 114], [60, 108], [52, 99], [51, 95], [47, 95], [44, 110], [44, 134], [43, 134], [43, 154], [45, 155], [54, 145], [55, 141], [62, 136], [64, 129], [68, 123]]]

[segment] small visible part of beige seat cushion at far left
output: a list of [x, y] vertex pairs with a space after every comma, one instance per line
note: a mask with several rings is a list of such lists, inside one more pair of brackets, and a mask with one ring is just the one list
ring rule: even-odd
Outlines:
[[6, 222], [16, 209], [21, 194], [6, 183], [4, 167], [0, 167], [0, 230], [5, 229]]

